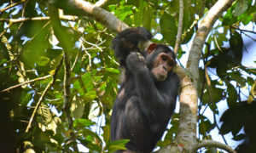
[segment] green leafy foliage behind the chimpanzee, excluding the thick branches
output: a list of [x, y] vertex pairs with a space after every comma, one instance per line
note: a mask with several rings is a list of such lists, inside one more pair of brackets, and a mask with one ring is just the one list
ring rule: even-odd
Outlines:
[[[73, 9], [68, 1], [55, 3], [65, 15], [76, 15], [75, 20], [61, 18], [62, 39], [67, 40], [71, 64], [70, 111], [72, 127], [63, 110], [64, 63], [63, 45], [59, 42], [49, 20], [48, 1], [3, 0], [0, 8], [0, 96], [3, 132], [7, 148], [20, 151], [32, 146], [36, 152], [73, 152], [74, 145], [83, 145], [90, 152], [113, 152], [124, 150], [129, 140], [111, 142], [109, 122], [113, 101], [119, 83], [119, 64], [110, 42], [115, 34], [108, 31], [86, 14]], [[204, 2], [204, 3], [203, 3]], [[195, 36], [198, 20], [201, 20], [216, 1], [184, 0], [183, 41], [184, 45]], [[13, 7], [12, 4], [17, 4]], [[90, 3], [96, 1], [90, 0]], [[144, 26], [154, 34], [154, 42], [174, 47], [177, 35], [178, 0], [113, 0], [102, 6], [129, 26]], [[256, 6], [252, 0], [237, 0], [220, 17], [207, 39], [208, 48], [203, 49], [200, 65], [201, 81], [198, 85], [199, 137], [212, 139], [211, 131], [218, 127], [212, 122], [204, 108], [218, 115], [218, 103], [227, 102], [229, 110], [221, 118], [224, 122], [220, 134], [231, 132], [233, 139], [249, 139], [248, 150], [255, 150], [254, 102], [256, 96], [256, 69], [242, 65], [247, 48], [246, 31], [239, 26], [252, 25], [256, 21]], [[252, 26], [248, 31], [253, 31]], [[163, 37], [156, 37], [161, 34]], [[253, 37], [255, 37], [255, 32]], [[58, 37], [59, 38], [59, 37]], [[229, 47], [226, 42], [229, 41]], [[225, 47], [225, 48], [224, 48]], [[255, 56], [252, 50], [247, 50]], [[177, 58], [183, 59], [185, 48]], [[254, 58], [255, 59], [255, 58]], [[256, 63], [256, 61], [254, 61]], [[180, 63], [183, 64], [183, 61]], [[58, 66], [60, 65], [60, 70]], [[254, 66], [255, 67], [255, 66]], [[215, 73], [216, 69], [216, 73]], [[213, 71], [213, 72], [212, 72]], [[57, 72], [56, 76], [54, 76]], [[209, 82], [207, 81], [207, 76]], [[54, 81], [44, 97], [44, 89]], [[22, 84], [20, 84], [22, 83]], [[18, 87], [15, 85], [19, 84]], [[9, 88], [9, 89], [7, 89]], [[242, 88], [247, 88], [246, 99], [241, 100]], [[4, 90], [7, 89], [7, 90]], [[26, 131], [33, 111], [42, 99], [32, 127]], [[249, 114], [249, 115], [247, 115]], [[171, 144], [178, 130], [178, 114], [166, 131], [160, 147]], [[247, 119], [247, 120], [244, 120]], [[139, 126], [139, 125], [138, 125]], [[239, 133], [241, 128], [245, 133]], [[73, 133], [75, 133], [73, 139]], [[14, 143], [15, 142], [15, 143]], [[241, 145], [238, 150], [241, 150]], [[253, 148], [254, 147], [254, 148]], [[1, 148], [0, 148], [1, 149]]]

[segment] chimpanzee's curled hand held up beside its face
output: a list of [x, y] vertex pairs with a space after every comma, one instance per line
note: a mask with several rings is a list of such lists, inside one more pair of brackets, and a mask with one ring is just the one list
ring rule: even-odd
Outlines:
[[131, 71], [137, 71], [140, 67], [145, 66], [145, 59], [142, 54], [132, 52], [126, 59], [126, 65]]

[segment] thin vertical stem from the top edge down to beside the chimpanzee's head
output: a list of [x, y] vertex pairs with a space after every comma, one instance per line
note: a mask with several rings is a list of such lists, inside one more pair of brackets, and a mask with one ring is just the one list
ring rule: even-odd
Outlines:
[[177, 54], [177, 51], [181, 43], [181, 35], [183, 31], [183, 0], [179, 0], [179, 15], [178, 15], [178, 26], [177, 26], [177, 38], [174, 47], [174, 54]]

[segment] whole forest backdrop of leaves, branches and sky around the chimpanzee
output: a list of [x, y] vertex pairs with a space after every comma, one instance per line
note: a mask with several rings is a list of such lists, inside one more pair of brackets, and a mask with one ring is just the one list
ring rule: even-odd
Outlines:
[[137, 26], [177, 54], [179, 107], [157, 150], [256, 150], [255, 0], [1, 2], [1, 152], [125, 150], [109, 139], [111, 41]]

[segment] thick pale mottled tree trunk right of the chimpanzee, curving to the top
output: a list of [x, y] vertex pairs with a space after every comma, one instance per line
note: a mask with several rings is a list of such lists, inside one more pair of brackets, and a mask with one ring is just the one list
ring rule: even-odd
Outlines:
[[[226, 10], [234, 0], [218, 0], [209, 10], [207, 16], [202, 20], [199, 30], [192, 43], [187, 62], [187, 76], [183, 78], [180, 94], [180, 120], [177, 133], [177, 143], [183, 144], [185, 150], [192, 150], [196, 143], [196, 122], [197, 122], [197, 83], [199, 79], [199, 59], [201, 49], [207, 35], [212, 29], [218, 16]], [[189, 115], [189, 116], [188, 116]]]

